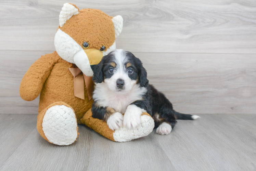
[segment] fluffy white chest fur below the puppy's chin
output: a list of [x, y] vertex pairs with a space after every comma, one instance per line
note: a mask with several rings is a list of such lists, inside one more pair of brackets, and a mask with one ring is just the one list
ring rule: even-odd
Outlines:
[[126, 94], [118, 94], [111, 91], [105, 81], [95, 84], [93, 99], [97, 101], [100, 106], [111, 107], [115, 109], [115, 111], [123, 114], [129, 104], [137, 100], [142, 100], [142, 96], [146, 91], [145, 87], [140, 87], [138, 84], [135, 84]]

